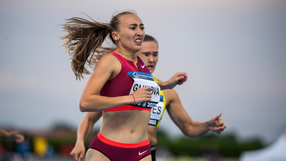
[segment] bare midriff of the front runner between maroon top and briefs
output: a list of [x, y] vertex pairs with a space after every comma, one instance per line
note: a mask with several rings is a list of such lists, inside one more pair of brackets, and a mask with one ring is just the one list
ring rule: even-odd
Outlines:
[[138, 143], [148, 139], [151, 113], [145, 110], [110, 111], [102, 114], [100, 133], [120, 143]]

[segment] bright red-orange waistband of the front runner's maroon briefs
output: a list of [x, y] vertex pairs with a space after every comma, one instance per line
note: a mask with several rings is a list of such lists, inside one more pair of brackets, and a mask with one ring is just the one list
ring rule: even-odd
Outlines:
[[131, 144], [128, 144], [128, 143], [120, 143], [120, 142], [114, 142], [112, 140], [109, 140], [107, 138], [105, 138], [104, 136], [101, 135], [100, 131], [97, 133], [97, 137], [99, 140], [101, 140], [102, 142], [106, 143], [106, 144], [109, 144], [111, 146], [116, 146], [116, 147], [119, 147], [119, 148], [138, 148], [138, 147], [141, 147], [141, 146], [146, 146], [146, 145], [149, 145], [149, 139], [143, 141], [143, 142], [139, 142], [139, 143], [131, 143]]

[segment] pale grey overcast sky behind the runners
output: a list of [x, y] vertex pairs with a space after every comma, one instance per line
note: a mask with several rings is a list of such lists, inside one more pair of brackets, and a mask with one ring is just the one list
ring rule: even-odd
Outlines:
[[[109, 22], [126, 9], [158, 40], [153, 75], [167, 80], [188, 73], [175, 90], [193, 120], [222, 113], [225, 134], [267, 142], [286, 131], [284, 0], [1, 1], [0, 127], [77, 127], [86, 114], [78, 104], [89, 76], [76, 81], [59, 25], [83, 17], [80, 12]], [[182, 135], [168, 113], [159, 128]]]

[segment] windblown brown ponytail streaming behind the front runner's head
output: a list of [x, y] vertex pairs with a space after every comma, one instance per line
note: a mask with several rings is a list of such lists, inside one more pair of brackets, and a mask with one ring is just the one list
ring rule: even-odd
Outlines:
[[89, 21], [87, 19], [73, 17], [66, 19], [62, 25], [67, 32], [61, 39], [66, 39], [62, 46], [72, 56], [72, 70], [76, 79], [84, 78], [83, 74], [90, 74], [85, 64], [96, 65], [90, 62], [94, 52], [101, 48], [105, 38], [109, 34], [108, 23]]

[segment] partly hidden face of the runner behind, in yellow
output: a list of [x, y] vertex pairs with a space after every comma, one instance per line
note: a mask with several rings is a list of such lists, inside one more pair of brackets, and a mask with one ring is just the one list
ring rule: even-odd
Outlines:
[[137, 54], [144, 54], [147, 57], [147, 66], [152, 74], [158, 62], [158, 44], [154, 41], [143, 42], [142, 48]]

